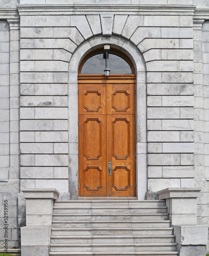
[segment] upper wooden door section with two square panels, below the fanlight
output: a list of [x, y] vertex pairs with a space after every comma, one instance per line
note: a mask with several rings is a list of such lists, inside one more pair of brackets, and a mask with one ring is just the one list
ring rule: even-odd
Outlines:
[[79, 114], [135, 114], [135, 83], [79, 82]]

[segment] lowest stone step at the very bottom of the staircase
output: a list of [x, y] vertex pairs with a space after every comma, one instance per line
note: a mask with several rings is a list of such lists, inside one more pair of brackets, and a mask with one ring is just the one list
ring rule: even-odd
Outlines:
[[170, 255], [178, 255], [176, 251], [138, 251], [138, 252], [50, 252], [49, 255], [54, 256], [170, 256]]

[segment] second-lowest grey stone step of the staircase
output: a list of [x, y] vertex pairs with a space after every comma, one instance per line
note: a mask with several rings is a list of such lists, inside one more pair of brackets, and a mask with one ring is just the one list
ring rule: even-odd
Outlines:
[[134, 251], [175, 251], [175, 243], [167, 244], [51, 244], [51, 252], [134, 252]]

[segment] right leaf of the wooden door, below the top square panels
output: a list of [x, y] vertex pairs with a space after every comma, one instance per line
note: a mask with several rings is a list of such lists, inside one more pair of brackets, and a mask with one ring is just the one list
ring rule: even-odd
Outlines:
[[112, 163], [111, 196], [131, 197], [135, 195], [135, 115], [108, 115], [107, 129], [111, 134], [107, 149]]

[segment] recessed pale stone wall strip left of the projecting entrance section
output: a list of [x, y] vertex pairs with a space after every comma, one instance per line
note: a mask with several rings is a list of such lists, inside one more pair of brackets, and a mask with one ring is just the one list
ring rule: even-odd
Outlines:
[[[4, 202], [8, 203], [9, 247], [18, 247], [19, 193], [19, 30], [0, 20], [0, 247], [5, 242]], [[21, 213], [20, 213], [21, 214]]]

